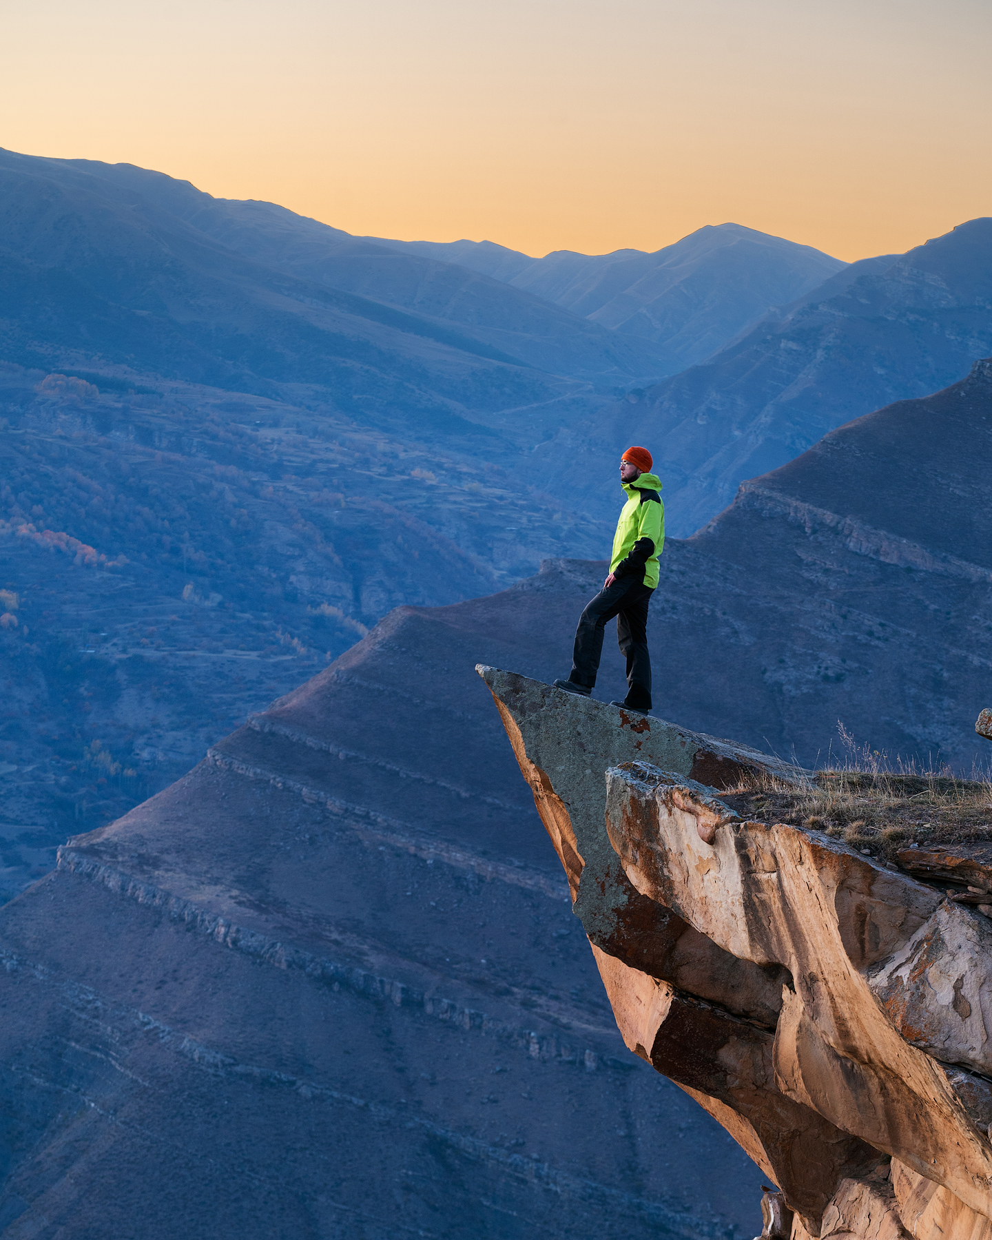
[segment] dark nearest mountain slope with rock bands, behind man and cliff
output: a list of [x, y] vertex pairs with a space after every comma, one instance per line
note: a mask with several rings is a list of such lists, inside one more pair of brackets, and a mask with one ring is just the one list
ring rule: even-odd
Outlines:
[[[992, 360], [672, 539], [656, 713], [970, 769], [990, 469]], [[604, 568], [394, 609], [0, 910], [5, 1234], [756, 1231], [756, 1168], [624, 1055], [474, 671], [564, 673]]]

